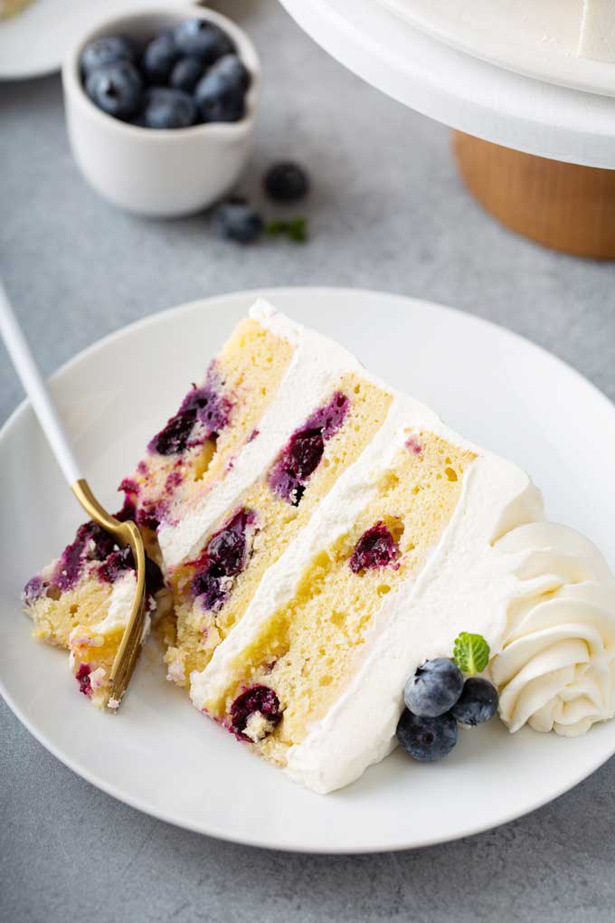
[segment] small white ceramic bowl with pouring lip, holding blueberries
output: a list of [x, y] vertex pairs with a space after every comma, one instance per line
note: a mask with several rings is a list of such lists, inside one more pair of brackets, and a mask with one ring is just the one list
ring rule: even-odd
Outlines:
[[[225, 30], [252, 75], [241, 122], [160, 130], [128, 125], [91, 102], [81, 83], [79, 60], [102, 35], [144, 40], [190, 18], [209, 19]], [[211, 205], [237, 181], [250, 150], [260, 89], [254, 45], [230, 19], [198, 7], [162, 6], [102, 20], [82, 35], [62, 68], [68, 137], [81, 172], [101, 196], [122, 209], [158, 218], [191, 214]]]

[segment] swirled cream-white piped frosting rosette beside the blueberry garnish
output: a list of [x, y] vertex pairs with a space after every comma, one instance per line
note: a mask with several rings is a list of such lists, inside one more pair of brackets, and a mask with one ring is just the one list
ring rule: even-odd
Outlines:
[[595, 545], [566, 526], [531, 522], [496, 547], [518, 557], [491, 678], [511, 732], [523, 725], [565, 737], [615, 714], [615, 581]]

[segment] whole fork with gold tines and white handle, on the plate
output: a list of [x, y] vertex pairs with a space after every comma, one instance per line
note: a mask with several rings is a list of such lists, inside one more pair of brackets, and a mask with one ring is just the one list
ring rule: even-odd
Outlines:
[[132, 521], [121, 522], [111, 516], [94, 497], [89, 484], [81, 476], [64, 427], [60, 423], [51, 395], [37, 366], [30, 346], [21, 330], [18, 319], [8, 300], [6, 289], [0, 281], [0, 333], [6, 349], [26, 390], [34, 413], [47, 437], [65, 479], [90, 519], [112, 534], [120, 545], [133, 553], [136, 572], [136, 594], [124, 635], [113, 660], [111, 671], [112, 693], [110, 703], [117, 708], [133, 675], [141, 648], [146, 608], [146, 557], [143, 539]]

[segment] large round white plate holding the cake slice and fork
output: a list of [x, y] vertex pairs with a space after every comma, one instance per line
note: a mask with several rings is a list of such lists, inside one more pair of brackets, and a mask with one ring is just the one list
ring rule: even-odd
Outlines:
[[[183, 306], [77, 356], [53, 392], [103, 501], [200, 378], [256, 294], [346, 342], [374, 372], [431, 402], [467, 437], [525, 464], [556, 519], [615, 561], [615, 411], [584, 378], [514, 334], [388, 294], [281, 289]], [[567, 740], [494, 721], [441, 763], [396, 752], [354, 785], [318, 796], [242, 748], [168, 683], [145, 653], [121, 713], [76, 694], [67, 656], [30, 640], [23, 583], [79, 521], [30, 408], [0, 433], [0, 689], [41, 743], [134, 807], [225, 839], [278, 849], [367, 852], [455, 839], [509, 821], [575, 785], [615, 751], [615, 722]]]

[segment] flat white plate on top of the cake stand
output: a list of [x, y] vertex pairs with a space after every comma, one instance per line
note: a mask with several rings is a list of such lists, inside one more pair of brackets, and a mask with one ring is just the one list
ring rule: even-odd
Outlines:
[[579, 57], [583, 0], [374, 0], [440, 42], [526, 77], [615, 95], [615, 64]]

